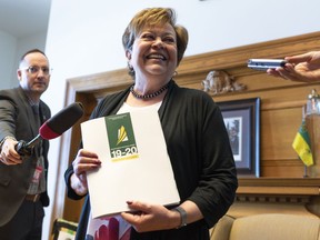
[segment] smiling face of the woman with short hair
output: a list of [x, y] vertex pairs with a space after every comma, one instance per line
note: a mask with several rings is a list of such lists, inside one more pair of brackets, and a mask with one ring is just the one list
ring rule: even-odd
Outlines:
[[129, 63], [139, 76], [171, 78], [177, 68], [177, 37], [172, 26], [146, 26], [137, 36], [132, 50], [127, 52]]

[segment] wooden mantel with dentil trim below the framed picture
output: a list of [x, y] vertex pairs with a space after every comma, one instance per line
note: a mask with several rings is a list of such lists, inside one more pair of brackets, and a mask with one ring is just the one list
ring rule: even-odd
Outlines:
[[319, 178], [239, 179], [237, 199], [228, 214], [239, 218], [281, 212], [319, 218]]

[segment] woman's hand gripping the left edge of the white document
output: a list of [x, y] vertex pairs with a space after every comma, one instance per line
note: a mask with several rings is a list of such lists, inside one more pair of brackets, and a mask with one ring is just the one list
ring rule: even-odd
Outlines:
[[79, 196], [88, 193], [87, 171], [92, 171], [101, 167], [101, 161], [94, 152], [80, 149], [72, 162], [73, 174], [71, 176], [71, 188]]

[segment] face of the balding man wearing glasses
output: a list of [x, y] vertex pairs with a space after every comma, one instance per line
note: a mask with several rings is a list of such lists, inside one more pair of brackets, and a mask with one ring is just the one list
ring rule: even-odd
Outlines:
[[49, 61], [46, 56], [40, 52], [27, 54], [20, 63], [17, 73], [21, 88], [27, 91], [30, 97], [40, 98], [49, 86]]

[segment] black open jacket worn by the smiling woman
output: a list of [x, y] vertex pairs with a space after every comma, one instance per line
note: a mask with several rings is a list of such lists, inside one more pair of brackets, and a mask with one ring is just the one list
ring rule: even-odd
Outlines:
[[[91, 118], [116, 114], [129, 89], [106, 97]], [[204, 219], [181, 229], [138, 233], [131, 239], [208, 240], [211, 228], [229, 209], [238, 187], [236, 164], [223, 118], [218, 106], [206, 92], [180, 88], [174, 81], [159, 109], [168, 153], [181, 201], [191, 200]], [[68, 196], [80, 199], [70, 188], [70, 167], [64, 174]], [[84, 239], [90, 201], [84, 202], [77, 239]]]

